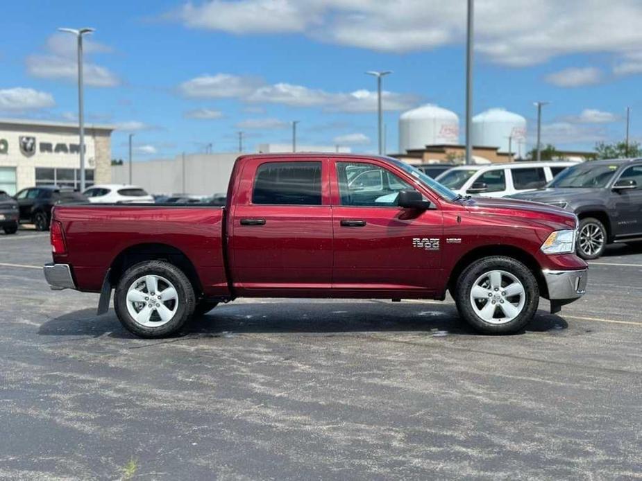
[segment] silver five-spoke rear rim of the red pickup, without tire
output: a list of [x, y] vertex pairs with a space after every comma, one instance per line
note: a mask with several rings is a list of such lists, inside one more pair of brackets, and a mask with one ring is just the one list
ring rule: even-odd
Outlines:
[[127, 290], [127, 311], [141, 326], [160, 327], [176, 314], [178, 292], [164, 277], [139, 277]]

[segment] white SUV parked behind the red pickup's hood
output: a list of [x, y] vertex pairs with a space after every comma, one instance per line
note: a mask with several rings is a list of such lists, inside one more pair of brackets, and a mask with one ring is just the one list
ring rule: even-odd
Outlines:
[[435, 180], [462, 195], [503, 197], [541, 189], [566, 167], [574, 165], [577, 162], [555, 160], [457, 166]]

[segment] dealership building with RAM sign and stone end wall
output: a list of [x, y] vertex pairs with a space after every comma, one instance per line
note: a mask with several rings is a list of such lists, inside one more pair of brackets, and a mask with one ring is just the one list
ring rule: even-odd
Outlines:
[[[85, 125], [87, 185], [111, 180], [110, 125]], [[77, 123], [0, 119], [0, 190], [57, 184], [79, 189]]]

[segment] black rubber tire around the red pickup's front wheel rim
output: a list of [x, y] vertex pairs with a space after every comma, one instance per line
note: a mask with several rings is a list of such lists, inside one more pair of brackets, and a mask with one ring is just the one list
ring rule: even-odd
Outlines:
[[[522, 284], [524, 290], [524, 304], [521, 311], [514, 319], [504, 322], [503, 324], [487, 322], [475, 312], [475, 309], [473, 309], [471, 291], [475, 281], [478, 281], [478, 279], [480, 279], [480, 277], [485, 273], [491, 271], [502, 271], [512, 274], [512, 276]], [[502, 277], [501, 279], [504, 281], [505, 277]], [[509, 301], [508, 298], [501, 297], [504, 295], [501, 288], [498, 292], [494, 292], [493, 288], [489, 288], [489, 291], [493, 296], [497, 296], [498, 300], [495, 302], [501, 302], [504, 304], [504, 302], [502, 302], [503, 299]], [[454, 297], [459, 315], [461, 315], [468, 324], [473, 326], [476, 331], [484, 334], [509, 334], [521, 331], [534, 317], [537, 312], [537, 306], [539, 306], [539, 286], [533, 272], [531, 272], [531, 270], [520, 261], [505, 256], [484, 257], [483, 259], [479, 259], [471, 265], [468, 265], [464, 272], [459, 275]], [[495, 299], [495, 297], [492, 299]], [[514, 300], [515, 298], [511, 297], [510, 299]], [[482, 304], [477, 304], [478, 306], [485, 306], [484, 302], [479, 302]], [[491, 299], [488, 299], [486, 302], [491, 302]], [[497, 308], [500, 307], [501, 306], [498, 304]], [[503, 308], [494, 312], [496, 314], [498, 312], [502, 313]], [[489, 317], [492, 317], [492, 315]]]

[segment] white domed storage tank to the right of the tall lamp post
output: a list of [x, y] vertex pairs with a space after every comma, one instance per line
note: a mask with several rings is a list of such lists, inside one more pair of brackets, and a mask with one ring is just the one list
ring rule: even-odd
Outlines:
[[[498, 147], [508, 152], [509, 141], [514, 155], [520, 152], [526, 141], [526, 119], [505, 109], [489, 109], [473, 117], [473, 146]], [[510, 140], [509, 140], [510, 137]]]

